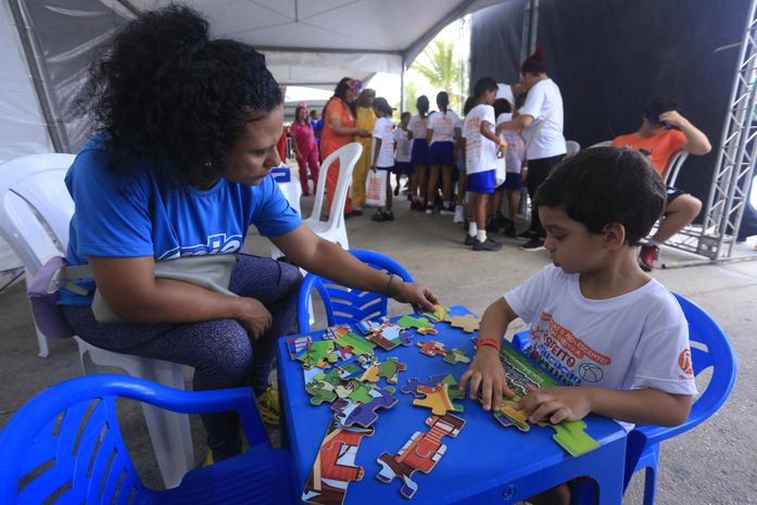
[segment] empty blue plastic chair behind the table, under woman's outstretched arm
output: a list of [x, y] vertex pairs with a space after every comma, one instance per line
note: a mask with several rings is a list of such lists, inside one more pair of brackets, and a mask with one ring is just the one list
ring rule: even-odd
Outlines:
[[[413, 276], [405, 267], [389, 256], [361, 249], [351, 249], [348, 252], [378, 270], [396, 274], [402, 277], [402, 280], [414, 282]], [[387, 315], [386, 295], [346, 288], [315, 274], [307, 274], [298, 296], [298, 324], [301, 333], [311, 331], [310, 306], [314, 289], [324, 302], [328, 326], [375, 319]]]

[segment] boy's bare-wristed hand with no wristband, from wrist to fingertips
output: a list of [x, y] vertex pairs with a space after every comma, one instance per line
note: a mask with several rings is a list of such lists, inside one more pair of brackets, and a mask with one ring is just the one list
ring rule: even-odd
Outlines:
[[548, 417], [556, 425], [563, 420], [579, 420], [592, 412], [591, 389], [579, 387], [528, 388], [528, 394], [516, 404], [530, 422]]

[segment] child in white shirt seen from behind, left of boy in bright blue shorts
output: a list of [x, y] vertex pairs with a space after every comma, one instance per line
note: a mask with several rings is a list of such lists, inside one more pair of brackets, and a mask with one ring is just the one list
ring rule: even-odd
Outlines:
[[439, 174], [442, 174], [442, 198], [444, 206], [439, 212], [443, 216], [455, 214], [452, 203], [452, 167], [455, 164], [455, 151], [460, 138], [460, 119], [447, 109], [450, 96], [445, 91], [437, 94], [439, 112], [428, 116], [426, 139], [429, 144], [429, 180], [426, 191], [426, 214], [433, 214], [433, 198], [437, 194]]

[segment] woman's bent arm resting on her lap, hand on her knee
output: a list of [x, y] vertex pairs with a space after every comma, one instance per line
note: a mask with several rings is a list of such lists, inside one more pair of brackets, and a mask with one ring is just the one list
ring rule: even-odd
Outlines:
[[187, 324], [237, 319], [257, 338], [270, 326], [261, 302], [216, 293], [188, 282], [155, 278], [152, 256], [87, 258], [108, 306], [129, 323]]

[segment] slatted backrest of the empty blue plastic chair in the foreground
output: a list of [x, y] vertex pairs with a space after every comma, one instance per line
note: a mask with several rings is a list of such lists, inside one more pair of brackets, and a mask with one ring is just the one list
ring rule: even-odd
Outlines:
[[55, 503], [125, 504], [150, 493], [124, 445], [114, 392], [91, 380], [101, 377], [53, 386], [8, 422], [0, 432], [0, 503], [49, 503], [61, 493]]

